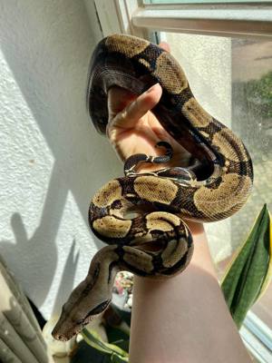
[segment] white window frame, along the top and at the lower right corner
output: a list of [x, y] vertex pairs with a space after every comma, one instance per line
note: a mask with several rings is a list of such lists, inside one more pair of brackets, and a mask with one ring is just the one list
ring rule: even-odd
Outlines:
[[[92, 1], [96, 8], [103, 36], [124, 33], [151, 39], [160, 31], [272, 41], [272, 1], [270, 4], [203, 5], [143, 5], [141, 0], [86, 1]], [[248, 312], [240, 335], [258, 362], [272, 362], [271, 330], [253, 312]]]

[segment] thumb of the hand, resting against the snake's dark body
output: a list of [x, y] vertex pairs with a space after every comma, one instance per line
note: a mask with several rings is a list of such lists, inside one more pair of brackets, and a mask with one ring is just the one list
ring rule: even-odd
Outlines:
[[108, 124], [109, 132], [113, 128], [131, 129], [142, 116], [150, 111], [160, 101], [162, 90], [159, 83], [154, 84], [145, 93], [125, 107], [121, 113], [117, 113], [112, 122]]

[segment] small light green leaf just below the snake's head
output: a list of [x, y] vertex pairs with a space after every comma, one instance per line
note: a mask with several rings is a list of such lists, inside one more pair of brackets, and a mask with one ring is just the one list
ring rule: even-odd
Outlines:
[[100, 338], [96, 331], [91, 329], [83, 329], [82, 335], [85, 342], [89, 344], [92, 348], [100, 350], [106, 355], [110, 355], [112, 362], [129, 361], [129, 354], [125, 350], [119, 348], [118, 346], [115, 346], [114, 344], [102, 341], [102, 338]]

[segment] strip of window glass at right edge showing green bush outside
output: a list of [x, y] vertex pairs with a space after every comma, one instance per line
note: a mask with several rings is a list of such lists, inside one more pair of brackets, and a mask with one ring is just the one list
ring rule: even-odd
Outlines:
[[[232, 40], [232, 129], [247, 143], [255, 172], [252, 196], [232, 219], [238, 245], [261, 206], [272, 211], [272, 42]], [[271, 301], [270, 284], [253, 311], [272, 329]]]

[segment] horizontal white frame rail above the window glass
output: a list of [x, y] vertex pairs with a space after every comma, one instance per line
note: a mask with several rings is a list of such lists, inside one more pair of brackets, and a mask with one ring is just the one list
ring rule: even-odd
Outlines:
[[[160, 29], [160, 31], [213, 34], [221, 36], [261, 36], [272, 38], [271, 14], [267, 8], [257, 6], [254, 11], [237, 6], [199, 9], [199, 7], [167, 8], [154, 6], [154, 8], [140, 7], [132, 15], [132, 24], [135, 27]], [[271, 11], [271, 7], [269, 7]]]

